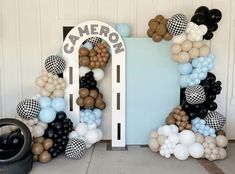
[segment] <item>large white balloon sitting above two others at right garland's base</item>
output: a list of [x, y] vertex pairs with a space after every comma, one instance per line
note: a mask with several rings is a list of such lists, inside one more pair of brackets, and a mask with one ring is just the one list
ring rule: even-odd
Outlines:
[[182, 132], [179, 133], [179, 140], [180, 143], [190, 146], [196, 141], [196, 136], [195, 134], [190, 131], [190, 130], [183, 130]]

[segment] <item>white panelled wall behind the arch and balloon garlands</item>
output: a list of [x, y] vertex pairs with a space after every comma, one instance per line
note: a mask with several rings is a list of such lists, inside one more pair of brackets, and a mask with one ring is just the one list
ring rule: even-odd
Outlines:
[[[146, 36], [151, 17], [157, 14], [170, 17], [181, 12], [190, 19], [201, 5], [219, 8], [223, 13], [210, 44], [217, 56], [214, 73], [223, 84], [217, 98], [218, 111], [227, 116], [227, 133], [235, 139], [233, 0], [0, 0], [1, 117], [14, 117], [17, 103], [37, 94], [34, 79], [40, 74], [45, 58], [60, 51], [62, 26], [89, 19], [126, 22], [132, 28], [132, 36]], [[110, 130], [107, 120], [103, 127]]]

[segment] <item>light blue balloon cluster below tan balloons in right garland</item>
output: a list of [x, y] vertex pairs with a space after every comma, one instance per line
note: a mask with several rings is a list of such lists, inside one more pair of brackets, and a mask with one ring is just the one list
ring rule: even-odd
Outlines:
[[215, 57], [210, 54], [208, 57], [194, 58], [191, 63], [179, 64], [179, 83], [181, 88], [200, 84], [206, 79], [207, 73], [214, 67]]

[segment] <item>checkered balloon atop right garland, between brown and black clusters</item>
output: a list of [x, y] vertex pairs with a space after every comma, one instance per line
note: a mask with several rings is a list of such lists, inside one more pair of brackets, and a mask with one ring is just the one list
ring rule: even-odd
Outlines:
[[175, 14], [167, 22], [169, 33], [174, 36], [182, 34], [187, 27], [188, 20], [184, 14]]

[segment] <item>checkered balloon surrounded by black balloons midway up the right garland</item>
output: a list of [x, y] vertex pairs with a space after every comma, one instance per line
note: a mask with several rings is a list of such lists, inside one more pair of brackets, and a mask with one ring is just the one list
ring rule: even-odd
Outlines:
[[206, 100], [206, 93], [201, 85], [189, 86], [185, 90], [185, 98], [191, 105], [201, 104]]

